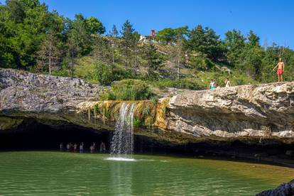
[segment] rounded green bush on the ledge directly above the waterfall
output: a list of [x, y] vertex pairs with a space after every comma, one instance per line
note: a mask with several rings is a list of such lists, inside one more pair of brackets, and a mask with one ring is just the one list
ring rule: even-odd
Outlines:
[[141, 80], [121, 80], [111, 85], [111, 90], [102, 95], [102, 100], [146, 100], [155, 96], [146, 82]]

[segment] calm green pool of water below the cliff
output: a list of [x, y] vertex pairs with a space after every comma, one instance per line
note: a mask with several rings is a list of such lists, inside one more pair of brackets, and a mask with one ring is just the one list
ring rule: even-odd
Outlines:
[[0, 153], [0, 195], [253, 195], [294, 178], [294, 169], [203, 158]]

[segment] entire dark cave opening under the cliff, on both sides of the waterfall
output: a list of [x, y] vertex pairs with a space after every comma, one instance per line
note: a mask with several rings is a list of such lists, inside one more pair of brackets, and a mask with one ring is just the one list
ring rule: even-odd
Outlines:
[[[50, 150], [58, 151], [60, 143], [85, 143], [85, 151], [95, 142], [103, 141], [109, 151], [113, 131], [94, 130], [75, 125], [48, 126], [32, 119], [23, 122], [17, 129], [0, 132], [0, 151]], [[292, 151], [285, 156], [286, 151]], [[292, 158], [294, 146], [277, 141], [206, 141], [177, 145], [157, 141], [147, 136], [134, 136], [134, 153], [167, 154], [180, 156], [215, 156], [222, 158]]]

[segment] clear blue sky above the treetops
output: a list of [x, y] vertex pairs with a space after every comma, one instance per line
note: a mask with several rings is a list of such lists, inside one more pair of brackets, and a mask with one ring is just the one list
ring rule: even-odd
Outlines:
[[[236, 28], [247, 34], [253, 30], [261, 38], [261, 45], [273, 42], [294, 49], [294, 1], [292, 0], [40, 0], [64, 16], [75, 13], [95, 16], [107, 28], [119, 28], [126, 19], [141, 34], [149, 34], [172, 27], [197, 24], [213, 28], [222, 38]], [[3, 2], [3, 1], [2, 1]]]

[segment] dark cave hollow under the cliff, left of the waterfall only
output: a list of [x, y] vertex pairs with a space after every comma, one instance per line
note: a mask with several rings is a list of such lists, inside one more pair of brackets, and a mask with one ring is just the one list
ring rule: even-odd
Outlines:
[[67, 143], [85, 143], [85, 149], [95, 142], [97, 146], [103, 141], [109, 146], [109, 131], [87, 129], [82, 126], [55, 125], [48, 126], [28, 119], [18, 128], [0, 133], [0, 151], [9, 150], [59, 150]]

